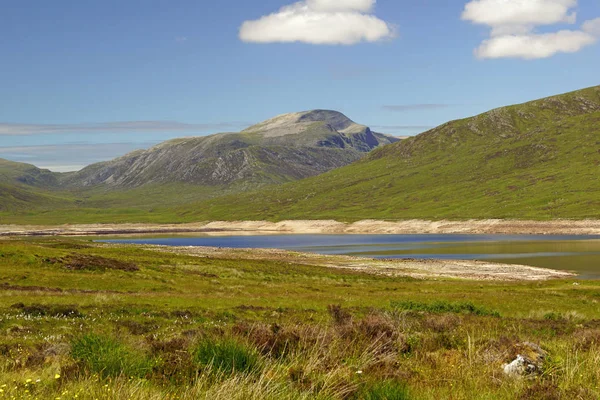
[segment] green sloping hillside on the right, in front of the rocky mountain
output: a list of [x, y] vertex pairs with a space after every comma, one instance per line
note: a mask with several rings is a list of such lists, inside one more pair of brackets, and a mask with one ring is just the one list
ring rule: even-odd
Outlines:
[[179, 210], [190, 220], [600, 218], [600, 86], [422, 133], [334, 171]]

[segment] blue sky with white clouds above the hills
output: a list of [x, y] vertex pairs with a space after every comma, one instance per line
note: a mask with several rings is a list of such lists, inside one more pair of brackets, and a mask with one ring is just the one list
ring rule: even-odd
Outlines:
[[598, 0], [2, 0], [0, 158], [77, 170], [311, 109], [414, 135], [599, 65]]

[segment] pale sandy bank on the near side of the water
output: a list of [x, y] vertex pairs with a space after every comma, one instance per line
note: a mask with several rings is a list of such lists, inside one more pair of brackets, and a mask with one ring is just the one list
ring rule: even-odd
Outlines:
[[320, 255], [272, 249], [226, 249], [215, 247], [141, 246], [154, 251], [187, 254], [204, 258], [272, 260], [370, 274], [417, 279], [469, 279], [480, 281], [542, 281], [574, 277], [574, 274], [526, 265], [462, 260], [396, 260]]

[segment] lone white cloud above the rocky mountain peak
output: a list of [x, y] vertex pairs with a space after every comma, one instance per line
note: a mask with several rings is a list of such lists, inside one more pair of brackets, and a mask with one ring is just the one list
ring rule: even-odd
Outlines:
[[305, 0], [240, 27], [253, 43], [304, 42], [351, 45], [395, 36], [394, 27], [371, 14], [376, 0]]

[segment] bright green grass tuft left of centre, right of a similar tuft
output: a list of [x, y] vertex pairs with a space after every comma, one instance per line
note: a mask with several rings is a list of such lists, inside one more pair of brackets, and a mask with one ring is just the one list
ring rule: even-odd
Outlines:
[[254, 372], [259, 364], [256, 349], [233, 339], [204, 338], [197, 344], [192, 357], [200, 368], [212, 368], [229, 375]]

